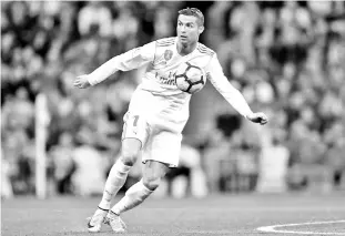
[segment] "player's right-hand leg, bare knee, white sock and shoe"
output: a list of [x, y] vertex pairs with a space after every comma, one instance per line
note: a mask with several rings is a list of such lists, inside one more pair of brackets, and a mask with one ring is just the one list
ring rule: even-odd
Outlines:
[[120, 214], [144, 202], [158, 188], [168, 170], [168, 164], [156, 161], [148, 161], [144, 164], [143, 178], [126, 191], [124, 197], [111, 208], [106, 216], [114, 232], [124, 232], [125, 225]]

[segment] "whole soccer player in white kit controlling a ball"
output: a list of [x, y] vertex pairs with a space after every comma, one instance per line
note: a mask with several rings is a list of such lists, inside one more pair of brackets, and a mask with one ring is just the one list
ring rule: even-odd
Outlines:
[[[74, 86], [95, 85], [116, 71], [129, 71], [146, 64], [142, 83], [134, 91], [124, 115], [121, 157], [112, 166], [102, 199], [91, 217], [89, 232], [100, 232], [102, 223], [116, 233], [125, 230], [120, 215], [148, 198], [159, 186], [170, 167], [179, 164], [182, 130], [189, 119], [191, 94], [174, 82], [174, 72], [184, 62], [204, 69], [206, 78], [224, 99], [245, 119], [265, 124], [264, 113], [254, 113], [243, 95], [231, 85], [216, 53], [199, 43], [204, 31], [203, 13], [195, 8], [179, 11], [177, 37], [150, 42], [110, 59], [90, 74], [74, 80]], [[128, 173], [142, 153], [143, 177], [131, 186], [111, 208], [111, 199], [123, 186]]]

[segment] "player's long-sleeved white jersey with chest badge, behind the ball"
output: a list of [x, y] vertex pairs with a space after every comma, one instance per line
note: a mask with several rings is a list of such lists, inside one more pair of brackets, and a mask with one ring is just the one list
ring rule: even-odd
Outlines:
[[165, 121], [164, 126], [181, 132], [189, 117], [191, 94], [177, 89], [174, 74], [181, 63], [189, 61], [206, 72], [206, 79], [242, 115], [251, 112], [241, 93], [229, 83], [213, 50], [197, 42], [194, 51], [181, 55], [176, 43], [176, 37], [161, 39], [114, 57], [91, 73], [90, 83], [97, 84], [118, 70], [129, 71], [146, 64], [129, 111], [144, 115], [149, 121], [155, 119], [156, 122], [159, 117]]

